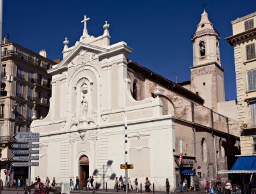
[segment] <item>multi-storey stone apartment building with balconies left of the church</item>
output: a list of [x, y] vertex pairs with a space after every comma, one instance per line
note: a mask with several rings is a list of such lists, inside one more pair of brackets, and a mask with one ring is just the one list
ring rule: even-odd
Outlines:
[[[18, 132], [30, 132], [32, 117], [43, 119], [49, 111], [51, 97], [51, 75], [49, 70], [55, 62], [46, 58], [46, 51], [36, 54], [23, 46], [9, 42], [2, 44], [1, 68], [1, 114], [0, 114], [0, 160], [10, 159], [11, 136]], [[11, 169], [6, 176], [4, 169]], [[28, 178], [28, 168], [1, 166], [1, 179]], [[4, 183], [5, 184], [5, 183]]]

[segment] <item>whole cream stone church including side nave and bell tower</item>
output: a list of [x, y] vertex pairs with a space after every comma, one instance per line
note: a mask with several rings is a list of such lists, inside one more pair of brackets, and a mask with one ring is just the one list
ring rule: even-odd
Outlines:
[[164, 191], [168, 178], [173, 191], [181, 179], [193, 186], [197, 175], [203, 184], [231, 168], [240, 152], [239, 130], [231, 113], [218, 113], [224, 77], [219, 35], [207, 13], [192, 39], [191, 81], [181, 84], [127, 59], [132, 49], [125, 42], [110, 44], [107, 22], [102, 36], [90, 36], [88, 19], [80, 40], [69, 47], [66, 38], [63, 60], [48, 70], [49, 114], [31, 126], [40, 133], [40, 166], [32, 168], [32, 178], [69, 183], [77, 176], [85, 187], [93, 175], [99, 188], [114, 187], [115, 177], [125, 175], [125, 117], [131, 183], [148, 177]]

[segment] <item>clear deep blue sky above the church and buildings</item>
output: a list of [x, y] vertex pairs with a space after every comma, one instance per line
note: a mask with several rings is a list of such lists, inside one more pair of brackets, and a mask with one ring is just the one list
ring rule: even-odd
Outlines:
[[203, 2], [221, 36], [226, 99], [236, 99], [234, 51], [225, 38], [230, 21], [256, 11], [256, 0], [3, 0], [3, 36], [34, 52], [44, 48], [51, 60], [62, 57], [63, 40], [73, 46], [82, 36], [84, 14], [88, 34], [103, 34], [110, 23], [110, 43], [127, 42], [128, 58], [176, 81], [190, 80], [193, 66], [191, 35], [203, 13]]

